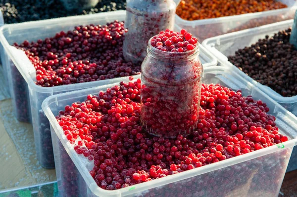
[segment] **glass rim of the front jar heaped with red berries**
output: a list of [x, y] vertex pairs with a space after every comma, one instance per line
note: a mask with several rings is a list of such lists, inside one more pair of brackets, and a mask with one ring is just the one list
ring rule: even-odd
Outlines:
[[155, 47], [153, 47], [150, 44], [152, 38], [150, 38], [148, 40], [148, 54], [153, 54], [153, 55], [157, 55], [157, 56], [163, 56], [163, 58], [173, 58], [176, 57], [176, 59], [178, 59], [177, 57], [183, 58], [183, 57], [191, 57], [191, 56], [196, 56], [199, 55], [199, 42], [197, 42], [197, 45], [195, 46], [194, 49], [190, 50], [190, 51], [186, 51], [186, 52], [169, 52], [169, 51], [161, 51], [160, 49], [157, 49]]

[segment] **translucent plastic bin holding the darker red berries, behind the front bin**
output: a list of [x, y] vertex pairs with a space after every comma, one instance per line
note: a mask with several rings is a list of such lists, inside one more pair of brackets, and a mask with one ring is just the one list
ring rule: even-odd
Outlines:
[[[8, 57], [6, 57], [8, 61], [7, 76], [12, 87], [11, 97], [14, 114], [18, 120], [28, 122], [30, 122], [32, 115], [32, 119], [34, 120], [33, 130], [36, 152], [38, 160], [43, 167], [54, 167], [49, 120], [45, 117], [41, 109], [44, 99], [53, 94], [95, 87], [123, 79], [101, 80], [56, 87], [41, 87], [34, 82], [36, 80], [35, 68], [27, 56], [21, 50], [11, 46], [11, 44], [14, 42], [20, 43], [25, 39], [29, 41], [45, 39], [54, 36], [56, 32], [71, 30], [77, 25], [91, 23], [106, 24], [114, 20], [124, 20], [125, 15], [125, 11], [114, 11], [11, 24], [0, 28], [0, 41], [3, 43], [5, 52], [8, 54]], [[214, 56], [207, 52], [204, 47], [200, 48], [200, 59], [204, 67], [217, 64]]]

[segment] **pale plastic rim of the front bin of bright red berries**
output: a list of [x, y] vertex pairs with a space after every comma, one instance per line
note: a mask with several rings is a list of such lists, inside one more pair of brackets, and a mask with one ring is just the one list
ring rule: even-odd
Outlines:
[[[206, 72], [211, 73], [212, 70], [224, 73], [224, 70], [226, 70], [226, 69], [228, 69], [228, 68], [212, 66], [212, 67], [205, 68], [204, 73], [206, 73]], [[236, 74], [236, 75], [238, 76], [238, 74]], [[140, 76], [138, 76], [138, 78], [139, 77]], [[244, 82], [249, 83], [246, 79], [243, 79], [243, 80], [244, 80]], [[99, 86], [99, 87], [96, 87], [96, 88], [97, 89], [102, 89], [102, 88], [105, 88], [105, 87], [107, 88], [107, 87], [110, 87], [110, 86], [115, 85], [115, 84], [118, 84], [118, 83], [106, 84], [106, 85], [102, 85], [102, 86]], [[253, 88], [255, 90], [260, 91], [257, 87], [253, 87]], [[268, 154], [271, 154], [271, 153], [274, 153], [274, 152], [277, 152], [277, 151], [280, 150], [280, 148], [277, 145], [273, 145], [271, 147], [267, 147], [265, 149], [261, 149], [261, 150], [258, 150], [258, 151], [252, 152], [252, 153], [248, 153], [248, 154], [241, 155], [241, 156], [234, 157], [234, 158], [229, 158], [229, 159], [217, 162], [217, 163], [208, 164], [206, 166], [202, 166], [202, 167], [199, 167], [199, 168], [188, 170], [188, 171], [185, 171], [183, 173], [178, 173], [178, 174], [170, 175], [170, 176], [167, 176], [167, 177], [163, 177], [162, 179], [152, 180], [152, 181], [137, 184], [137, 185], [134, 185], [134, 186], [129, 186], [127, 188], [122, 188], [122, 189], [119, 189], [119, 190], [107, 191], [107, 190], [99, 188], [97, 186], [96, 182], [94, 181], [93, 177], [89, 173], [85, 174], [84, 173], [85, 170], [83, 171], [83, 169], [81, 169], [81, 167], [79, 165], [79, 160], [81, 160], [82, 158], [80, 158], [76, 154], [74, 149], [72, 149], [69, 141], [67, 141], [65, 138], [62, 138], [62, 136], [61, 136], [61, 133], [63, 133], [62, 129], [57, 124], [57, 122], [53, 122], [53, 121], [56, 121], [56, 119], [55, 119], [55, 116], [52, 114], [52, 112], [51, 112], [51, 110], [49, 108], [49, 105], [51, 103], [57, 102], [58, 97], [61, 97], [61, 96], [68, 96], [69, 97], [70, 95], [75, 95], [77, 93], [82, 93], [84, 91], [88, 91], [88, 90], [91, 90], [91, 89], [94, 89], [94, 87], [49, 96], [47, 99], [44, 100], [44, 102], [42, 104], [42, 109], [44, 110], [46, 116], [49, 118], [50, 124], [53, 127], [55, 134], [58, 136], [59, 140], [63, 144], [63, 147], [67, 151], [68, 155], [70, 156], [70, 158], [72, 159], [72, 161], [74, 162], [74, 164], [76, 165], [78, 170], [80, 171], [80, 173], [83, 176], [84, 180], [86, 181], [88, 187], [97, 196], [118, 195], [120, 197], [120, 196], [132, 195], [132, 194], [137, 193], [137, 192], [142, 192], [142, 191], [145, 191], [145, 190], [149, 190], [151, 188], [167, 185], [169, 183], [181, 181], [181, 180], [188, 179], [188, 178], [191, 178], [191, 177], [194, 177], [194, 176], [198, 176], [198, 175], [201, 175], [201, 174], [204, 174], [204, 173], [208, 173], [210, 171], [215, 171], [215, 170], [218, 170], [218, 169], [221, 169], [221, 168], [224, 168], [224, 167], [228, 167], [228, 166], [231, 166], [231, 165], [234, 165], [234, 164], [238, 164], [238, 163], [250, 160], [250, 159], [262, 157], [262, 156], [265, 156], [265, 155], [268, 155]], [[260, 91], [260, 92], [263, 93], [264, 95], [266, 95], [264, 92], [262, 92], [262, 91]], [[75, 98], [75, 97], [71, 97], [71, 98]], [[269, 98], [269, 97], [267, 96], [267, 98]], [[272, 101], [272, 102], [273, 102], [273, 104], [275, 104], [276, 106], [278, 106], [282, 110], [287, 111], [285, 108], [280, 106], [275, 101]], [[292, 113], [290, 113], [290, 112], [288, 112], [288, 113], [289, 113], [289, 115], [291, 117], [297, 119], [296, 117], [293, 116]], [[294, 138], [294, 139], [290, 139], [289, 141], [284, 142], [282, 144], [284, 145], [285, 149], [294, 147], [294, 146], [297, 145], [297, 137]], [[284, 150], [284, 148], [282, 148], [281, 150]], [[91, 182], [90, 182], [90, 180], [91, 180]], [[135, 190], [136, 188], [137, 188], [137, 190]], [[135, 191], [135, 192], [131, 192], [131, 191]]]

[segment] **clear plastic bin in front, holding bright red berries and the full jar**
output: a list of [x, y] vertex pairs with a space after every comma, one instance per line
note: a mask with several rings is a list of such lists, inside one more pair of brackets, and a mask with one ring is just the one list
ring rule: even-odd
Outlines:
[[[276, 124], [280, 132], [287, 135], [289, 141], [127, 188], [115, 191], [103, 190], [97, 186], [89, 173], [93, 169], [94, 161], [89, 161], [84, 156], [76, 154], [74, 145], [71, 145], [66, 139], [55, 116], [60, 110], [64, 110], [66, 105], [84, 101], [88, 94], [96, 95], [100, 90], [104, 91], [107, 87], [115, 85], [109, 84], [53, 95], [43, 102], [42, 108], [51, 124], [58, 185], [68, 184], [67, 187], [75, 188], [77, 196], [84, 197], [277, 197], [292, 149], [297, 145], [297, 118], [257, 87], [233, 73], [230, 68], [207, 67], [204, 69], [202, 81], [204, 83], [220, 83], [235, 90], [241, 89], [243, 95], [252, 95], [254, 99], [266, 102], [270, 108], [269, 113], [277, 117]], [[68, 155], [64, 154], [65, 151]], [[68, 156], [76, 166], [74, 171], [63, 169], [63, 166], [72, 165]], [[67, 175], [63, 173], [67, 173]], [[71, 173], [78, 173], [83, 179], [76, 176], [71, 177]], [[64, 177], [71, 177], [71, 179], [65, 182]], [[71, 185], [72, 183], [73, 185]], [[71, 196], [67, 192], [67, 188], [59, 187], [59, 189], [62, 196]]]

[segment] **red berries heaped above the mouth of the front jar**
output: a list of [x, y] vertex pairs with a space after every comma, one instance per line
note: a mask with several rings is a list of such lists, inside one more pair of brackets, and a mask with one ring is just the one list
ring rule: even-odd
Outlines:
[[181, 32], [173, 30], [161, 31], [157, 36], [150, 39], [151, 46], [166, 52], [187, 52], [197, 46], [198, 39], [193, 38], [192, 34], [182, 29]]

